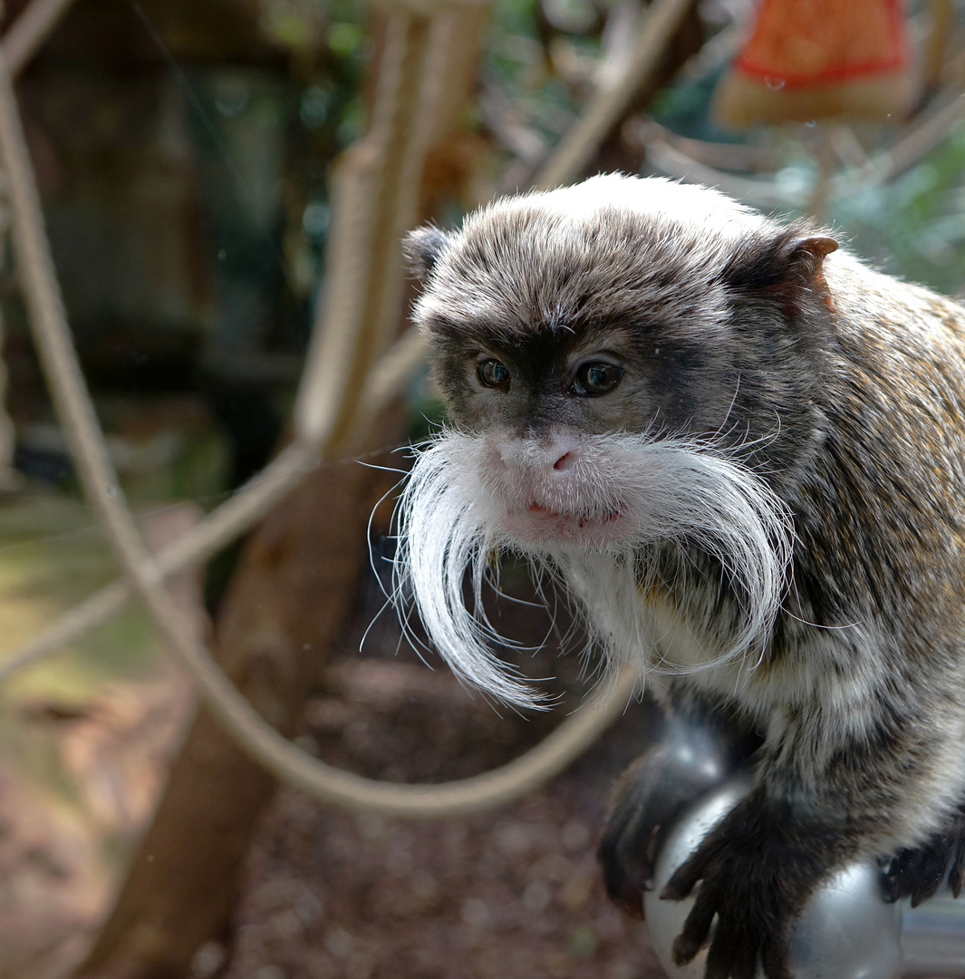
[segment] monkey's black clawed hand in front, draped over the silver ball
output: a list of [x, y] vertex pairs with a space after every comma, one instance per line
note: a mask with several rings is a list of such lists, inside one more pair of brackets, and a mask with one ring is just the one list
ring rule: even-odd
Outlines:
[[838, 860], [827, 827], [796, 820], [758, 792], [739, 803], [667, 881], [661, 898], [680, 901], [700, 881], [673, 943], [678, 965], [708, 943], [706, 979], [793, 979], [790, 926]]

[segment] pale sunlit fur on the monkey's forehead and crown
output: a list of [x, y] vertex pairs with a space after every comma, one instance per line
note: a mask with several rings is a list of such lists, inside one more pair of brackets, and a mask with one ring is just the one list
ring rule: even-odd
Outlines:
[[572, 326], [574, 313], [592, 317], [647, 292], [663, 311], [692, 312], [699, 301], [701, 312], [726, 316], [725, 262], [781, 227], [710, 188], [663, 177], [607, 174], [503, 198], [459, 232], [410, 236], [410, 263], [428, 287], [414, 318], [471, 328], [498, 312], [515, 320], [508, 329]]

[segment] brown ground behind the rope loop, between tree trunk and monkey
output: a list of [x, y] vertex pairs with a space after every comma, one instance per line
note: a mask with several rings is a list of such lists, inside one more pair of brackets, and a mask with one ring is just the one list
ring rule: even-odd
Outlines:
[[[302, 745], [345, 769], [393, 780], [491, 769], [561, 714], [500, 717], [447, 672], [404, 657], [344, 662], [328, 671], [325, 686]], [[209, 945], [195, 975], [661, 976], [646, 927], [609, 904], [594, 858], [609, 788], [654, 723], [651, 707], [632, 704], [571, 769], [480, 816], [352, 816], [281, 791], [250, 856], [230, 962]]]

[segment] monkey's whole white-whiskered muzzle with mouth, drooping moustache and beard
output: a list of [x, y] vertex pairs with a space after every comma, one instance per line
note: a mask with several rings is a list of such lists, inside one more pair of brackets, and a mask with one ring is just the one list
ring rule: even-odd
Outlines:
[[[647, 434], [577, 438], [580, 468], [569, 480], [544, 478], [526, 461], [507, 466], [492, 437], [447, 432], [422, 449], [399, 500], [396, 604], [411, 596], [457, 675], [527, 707], [542, 698], [494, 655], [491, 643], [505, 640], [482, 610], [501, 550], [565, 584], [613, 666], [686, 672], [756, 655], [787, 584], [792, 531], [781, 500], [732, 450]], [[663, 587], [668, 548], [685, 566], [696, 549], [718, 568], [696, 607], [681, 610], [706, 640], [696, 665], [669, 663], [659, 650], [648, 596]], [[721, 586], [739, 608], [726, 622], [713, 613]]]

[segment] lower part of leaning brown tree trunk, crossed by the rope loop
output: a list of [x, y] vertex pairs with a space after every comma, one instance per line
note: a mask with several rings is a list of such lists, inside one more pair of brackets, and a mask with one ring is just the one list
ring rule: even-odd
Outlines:
[[[258, 712], [291, 735], [365, 559], [374, 477], [309, 476], [256, 531], [224, 598], [215, 653]], [[175, 979], [223, 935], [254, 824], [275, 781], [202, 709], [154, 822], [78, 976]]]

